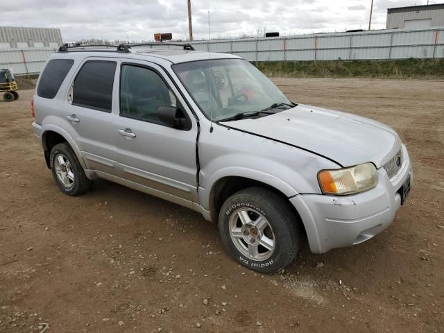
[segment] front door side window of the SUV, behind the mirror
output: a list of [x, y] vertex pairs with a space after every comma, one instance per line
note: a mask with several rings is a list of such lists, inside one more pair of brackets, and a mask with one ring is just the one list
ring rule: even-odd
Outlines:
[[176, 107], [176, 96], [151, 69], [123, 65], [120, 78], [120, 115], [160, 123], [161, 106]]

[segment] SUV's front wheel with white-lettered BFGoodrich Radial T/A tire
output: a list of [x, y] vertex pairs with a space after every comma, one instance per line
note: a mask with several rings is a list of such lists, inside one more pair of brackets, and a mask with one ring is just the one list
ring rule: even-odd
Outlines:
[[219, 213], [219, 232], [230, 255], [260, 273], [286, 267], [300, 248], [298, 217], [289, 205], [262, 187], [230, 196]]

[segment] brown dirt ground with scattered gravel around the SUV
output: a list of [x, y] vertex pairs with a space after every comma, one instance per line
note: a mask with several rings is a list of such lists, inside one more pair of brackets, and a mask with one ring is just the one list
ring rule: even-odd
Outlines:
[[195, 212], [106, 181], [63, 195], [25, 90], [0, 101], [0, 332], [444, 332], [444, 82], [275, 82], [398, 131], [415, 182], [387, 230], [249, 271]]

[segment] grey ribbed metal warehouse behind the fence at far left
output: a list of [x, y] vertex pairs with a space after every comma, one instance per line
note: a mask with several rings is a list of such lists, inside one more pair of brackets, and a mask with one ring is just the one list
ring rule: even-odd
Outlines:
[[55, 28], [0, 26], [0, 49], [56, 49], [62, 44], [62, 33]]

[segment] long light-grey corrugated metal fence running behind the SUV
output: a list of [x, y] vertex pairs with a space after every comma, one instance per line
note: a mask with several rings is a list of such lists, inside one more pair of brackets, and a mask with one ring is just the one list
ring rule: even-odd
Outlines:
[[[191, 44], [196, 50], [232, 53], [249, 61], [444, 58], [444, 28], [210, 40]], [[56, 46], [0, 50], [0, 69], [12, 68], [15, 74], [39, 73], [45, 60], [57, 51]]]

